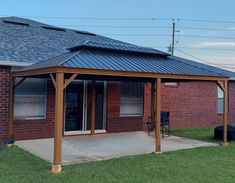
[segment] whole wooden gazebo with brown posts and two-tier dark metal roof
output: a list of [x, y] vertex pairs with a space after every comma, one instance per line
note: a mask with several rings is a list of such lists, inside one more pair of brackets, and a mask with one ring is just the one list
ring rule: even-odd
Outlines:
[[[64, 90], [75, 79], [92, 80], [91, 135], [95, 133], [95, 99], [97, 80], [151, 83], [151, 115], [155, 119], [155, 153], [161, 154], [161, 83], [211, 81], [224, 91], [224, 139], [227, 146], [228, 77], [214, 68], [171, 56], [151, 48], [87, 42], [69, 53], [41, 61], [12, 72], [9, 140], [13, 138], [14, 90], [25, 78], [50, 78], [55, 87], [55, 127], [52, 172], [62, 170], [62, 128]], [[22, 79], [15, 83], [15, 78]]]

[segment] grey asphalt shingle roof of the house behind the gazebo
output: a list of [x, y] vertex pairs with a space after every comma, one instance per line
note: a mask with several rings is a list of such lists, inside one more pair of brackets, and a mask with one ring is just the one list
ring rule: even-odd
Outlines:
[[[4, 21], [28, 24], [14, 25]], [[50, 25], [18, 17], [0, 18], [0, 61], [36, 63], [69, 52], [68, 48], [79, 46], [87, 41], [134, 46], [107, 37], [86, 34], [62, 28], [65, 31], [51, 30]]]

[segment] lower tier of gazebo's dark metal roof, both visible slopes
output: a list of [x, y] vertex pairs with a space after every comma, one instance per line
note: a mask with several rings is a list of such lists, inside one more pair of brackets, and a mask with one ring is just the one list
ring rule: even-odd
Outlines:
[[94, 51], [89, 49], [62, 54], [58, 57], [38, 62], [29, 67], [25, 67], [23, 70], [32, 70], [54, 66], [159, 74], [228, 76], [226, 74], [217, 72], [220, 69], [211, 69], [211, 66], [174, 56], [161, 57], [156, 55], [149, 56], [126, 52], [117, 53], [104, 50]]

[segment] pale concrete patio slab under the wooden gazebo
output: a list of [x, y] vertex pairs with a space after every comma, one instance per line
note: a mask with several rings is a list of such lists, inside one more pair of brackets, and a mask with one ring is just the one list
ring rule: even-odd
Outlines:
[[[53, 142], [53, 138], [50, 138], [17, 141], [15, 144], [42, 159], [52, 162]], [[218, 144], [175, 136], [162, 139], [163, 152], [216, 145]], [[142, 131], [64, 137], [62, 144], [62, 163], [83, 163], [128, 155], [147, 154], [152, 153], [154, 148], [154, 136], [148, 136]]]

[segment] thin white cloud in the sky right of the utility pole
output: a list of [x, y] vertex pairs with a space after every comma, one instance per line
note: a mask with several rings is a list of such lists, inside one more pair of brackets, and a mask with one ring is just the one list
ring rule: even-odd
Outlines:
[[193, 48], [218, 48], [218, 47], [235, 48], [235, 42], [208, 41], [208, 42], [200, 42], [193, 44], [192, 47]]

